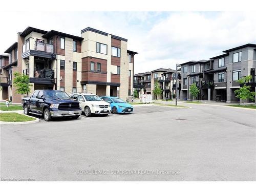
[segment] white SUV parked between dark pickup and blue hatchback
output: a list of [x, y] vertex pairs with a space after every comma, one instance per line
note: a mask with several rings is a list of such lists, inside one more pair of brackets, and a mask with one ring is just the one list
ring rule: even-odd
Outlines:
[[79, 101], [82, 112], [87, 117], [92, 114], [109, 115], [111, 113], [110, 103], [102, 101], [98, 95], [89, 93], [72, 93], [71, 98]]

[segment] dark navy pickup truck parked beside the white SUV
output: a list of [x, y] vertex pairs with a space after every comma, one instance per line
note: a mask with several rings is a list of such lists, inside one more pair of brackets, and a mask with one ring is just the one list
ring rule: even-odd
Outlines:
[[72, 117], [81, 115], [79, 102], [66, 92], [57, 90], [35, 90], [31, 97], [22, 98], [24, 114], [44, 115], [46, 121], [52, 117]]

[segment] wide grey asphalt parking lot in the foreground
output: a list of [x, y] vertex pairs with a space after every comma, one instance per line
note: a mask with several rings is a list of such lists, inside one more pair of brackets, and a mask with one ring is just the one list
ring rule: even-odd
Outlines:
[[256, 112], [188, 106], [1, 125], [1, 179], [255, 181]]

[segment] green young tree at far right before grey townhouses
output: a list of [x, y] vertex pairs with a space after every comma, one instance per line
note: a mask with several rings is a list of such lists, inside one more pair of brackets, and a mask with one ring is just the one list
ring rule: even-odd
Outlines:
[[246, 86], [246, 84], [245, 84], [245, 83], [250, 82], [251, 78], [252, 78], [252, 76], [248, 75], [248, 76], [242, 77], [241, 79], [238, 80], [238, 82], [240, 84], [244, 84], [244, 85], [243, 85], [243, 87], [239, 88], [239, 90], [234, 91], [234, 94], [236, 94], [237, 98], [240, 98], [243, 101], [245, 101], [246, 99], [250, 99], [250, 100], [254, 101], [255, 92], [250, 91], [251, 86]]

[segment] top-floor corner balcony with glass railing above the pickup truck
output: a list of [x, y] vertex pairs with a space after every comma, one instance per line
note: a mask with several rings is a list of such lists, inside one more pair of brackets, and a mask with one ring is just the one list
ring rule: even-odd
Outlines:
[[54, 46], [38, 41], [28, 41], [23, 45], [22, 58], [30, 55], [46, 58], [55, 58]]

